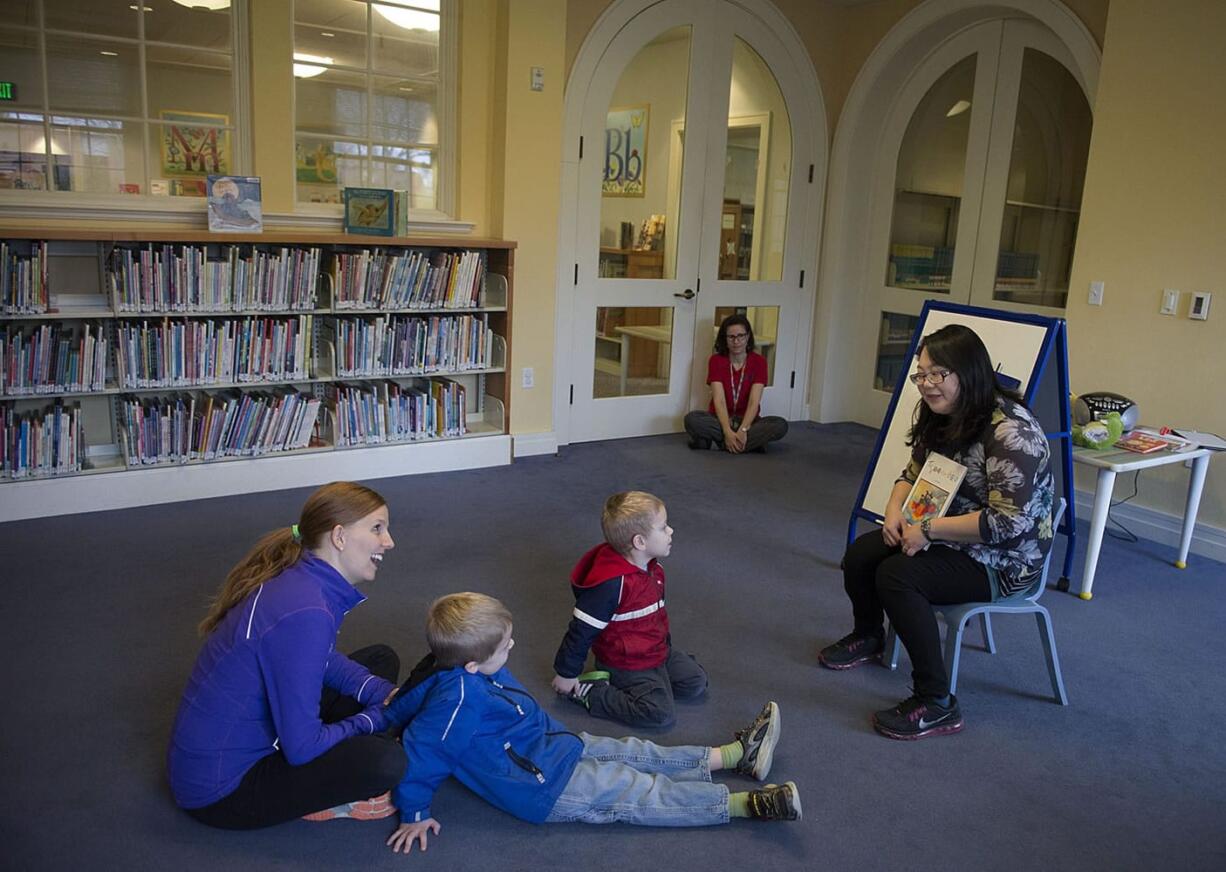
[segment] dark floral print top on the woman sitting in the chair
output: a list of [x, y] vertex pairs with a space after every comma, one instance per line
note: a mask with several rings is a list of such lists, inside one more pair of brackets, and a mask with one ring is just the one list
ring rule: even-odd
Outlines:
[[[980, 514], [982, 542], [942, 545], [966, 552], [987, 568], [999, 597], [1030, 587], [1052, 547], [1052, 477], [1047, 435], [1021, 403], [997, 397], [983, 437], [951, 455], [966, 467], [949, 515]], [[911, 460], [899, 481], [915, 483], [922, 464]]]

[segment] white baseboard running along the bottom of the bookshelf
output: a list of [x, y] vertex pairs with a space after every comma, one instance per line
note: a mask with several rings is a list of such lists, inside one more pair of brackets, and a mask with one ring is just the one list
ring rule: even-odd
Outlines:
[[483, 435], [268, 455], [189, 466], [156, 466], [63, 478], [33, 478], [0, 486], [0, 522], [283, 491], [330, 481], [368, 481], [419, 472], [504, 466], [510, 462], [511, 437]]

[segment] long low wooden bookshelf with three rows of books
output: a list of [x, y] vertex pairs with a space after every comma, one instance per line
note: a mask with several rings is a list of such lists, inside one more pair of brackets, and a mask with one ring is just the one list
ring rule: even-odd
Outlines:
[[[9, 416], [11, 423], [22, 418], [27, 422], [45, 419], [48, 415], [54, 416], [54, 408], [60, 406], [74, 411], [83, 433], [81, 442], [70, 442], [64, 435], [65, 430], [48, 426], [48, 433], [60, 437], [58, 443], [65, 449], [72, 446], [72, 456], [67, 462], [64, 462], [65, 453], [59, 453], [58, 460], [61, 462], [55, 469], [21, 467], [21, 459], [13, 457], [11, 450], [16, 444], [2, 453], [0, 522], [305, 487], [340, 478], [379, 478], [510, 462], [510, 391], [506, 368], [511, 340], [512, 242], [444, 235], [373, 238], [345, 233], [276, 231], [248, 234], [157, 229], [0, 229], [0, 240], [9, 243], [18, 258], [28, 256], [31, 249], [39, 243], [47, 244], [49, 291], [45, 312], [0, 312], [0, 337], [4, 338], [0, 353], [23, 348], [28, 361], [31, 346], [27, 340], [38, 336], [43, 337], [40, 347], [50, 350], [43, 353], [54, 356], [55, 346], [47, 337], [54, 335], [59, 340], [71, 336], [77, 341], [83, 336], [85, 325], [89, 325], [91, 338], [104, 338], [108, 342], [105, 372], [101, 383], [97, 378], [93, 380], [92, 389], [55, 379], [48, 383], [45, 375], [43, 380], [38, 380], [37, 375], [33, 380], [15, 377], [15, 369], [21, 364], [15, 353], [9, 353], [5, 359], [7, 365], [0, 367], [0, 413]], [[297, 286], [298, 291], [309, 288], [309, 299], [298, 298], [292, 308], [240, 309], [235, 304], [235, 308], [215, 305], [210, 310], [183, 310], [181, 303], [178, 309], [166, 310], [150, 307], [146, 310], [124, 308], [115, 287], [118, 280], [113, 275], [118, 269], [115, 265], [123, 260], [123, 250], [148, 250], [148, 247], [162, 245], [174, 247], [173, 250], [179, 253], [184, 250], [180, 247], [201, 251], [211, 261], [211, 269], [216, 269], [217, 264], [233, 262], [226, 261], [230, 256], [248, 256], [254, 262], [255, 251], [292, 259], [316, 250], [318, 271], [306, 275], [303, 283]], [[427, 255], [425, 262], [441, 262], [443, 255], [455, 255], [459, 260], [463, 253], [479, 254], [483, 272], [479, 278], [476, 275], [471, 277], [471, 287], [479, 291], [477, 305], [471, 305], [471, 299], [451, 300], [450, 304], [414, 300], [408, 305], [387, 308], [380, 308], [378, 299], [336, 305], [337, 280], [331, 275], [333, 259], [341, 254], [362, 255], [375, 250], [389, 258], [407, 258], [419, 253]], [[232, 251], [235, 254], [230, 255]], [[459, 266], [455, 269], [457, 276], [461, 275]], [[229, 299], [237, 300], [239, 296], [233, 291], [235, 280], [232, 276], [229, 281]], [[375, 288], [378, 282], [368, 286]], [[463, 294], [457, 293], [457, 297]], [[338, 369], [335, 336], [342, 323], [347, 325], [349, 335], [357, 329], [358, 335], [368, 342], [363, 352], [375, 361], [374, 365], [349, 367], [345, 370], [351, 373], [348, 375]], [[142, 378], [140, 384], [131, 378], [131, 354], [126, 364], [128, 381], [123, 383], [119, 378], [120, 337], [128, 337], [124, 348], [131, 352], [132, 325], [140, 325], [148, 336], [154, 337], [139, 343], [141, 363], [153, 361], [158, 364], [156, 378]], [[224, 327], [235, 334], [245, 330], [254, 337], [249, 345], [262, 338], [262, 347], [271, 347], [275, 353], [259, 359], [261, 364], [272, 359], [273, 364], [265, 370], [256, 370], [254, 375], [244, 373], [243, 377], [229, 378], [213, 378], [222, 370], [208, 370], [201, 377], [199, 369], [181, 365], [175, 368], [174, 364], [181, 364], [184, 359], [212, 362], [213, 358], [201, 352], [196, 345], [191, 346], [199, 352], [195, 357], [184, 353], [184, 343], [178, 338], [201, 335], [206, 326], [218, 330]], [[384, 337], [389, 326], [398, 326], [409, 335], [418, 336], [421, 342], [414, 348], [419, 356], [407, 363], [402, 356], [395, 363], [384, 365], [379, 354], [384, 353], [381, 350], [386, 346], [376, 346], [369, 337]], [[53, 330], [56, 332], [51, 334]], [[281, 343], [270, 341], [271, 336], [281, 337]], [[151, 348], [156, 348], [157, 353], [150, 352]], [[164, 353], [167, 348], [175, 353]], [[226, 353], [229, 353], [228, 350]], [[284, 372], [277, 369], [280, 364], [276, 363], [276, 353], [283, 356], [282, 363], [293, 365]], [[353, 353], [352, 347], [349, 353]], [[61, 351], [61, 358], [63, 354]], [[82, 356], [83, 352], [78, 354]], [[91, 359], [101, 357], [99, 353]], [[166, 368], [168, 359], [169, 369]], [[255, 359], [255, 352], [248, 359]], [[63, 359], [59, 365], [63, 370]], [[53, 372], [54, 367], [55, 359], [51, 361]], [[70, 369], [76, 373], [75, 368]], [[22, 372], [26, 375], [33, 372], [32, 364]], [[192, 374], [189, 377], [185, 373]], [[147, 377], [148, 373], [142, 370], [141, 375]], [[451, 384], [444, 383], [444, 379]], [[341, 444], [338, 434], [342, 429], [352, 442], [354, 428], [342, 428], [337, 419], [338, 410], [329, 403], [336, 402], [338, 397], [352, 399], [358, 394], [353, 390], [338, 391], [338, 388], [362, 386], [378, 399], [386, 396], [389, 391], [396, 396], [397, 391], [392, 386], [398, 386], [402, 399], [406, 394], [417, 396], [419, 392], [430, 397], [435, 395], [432, 380], [438, 381], [439, 397], [444, 396], [443, 386], [450, 389], [444, 403], [450, 412], [446, 427], [440, 418], [434, 429], [392, 428], [389, 422], [402, 421], [389, 416], [387, 407], [375, 402], [354, 412], [367, 415], [362, 421], [371, 423], [370, 427], [357, 428], [360, 434], [359, 444]], [[305, 410], [309, 401], [318, 401], [314, 426], [304, 423], [300, 430], [294, 430], [288, 412], [286, 418], [277, 419], [266, 411], [291, 392], [294, 399], [284, 403], [286, 408], [297, 410], [302, 406]], [[249, 407], [259, 406], [251, 417], [245, 418], [248, 423], [264, 419], [255, 417], [257, 415], [268, 416], [270, 423], [264, 429], [257, 429], [253, 423], [249, 430], [240, 430], [248, 442], [233, 446], [237, 454], [206, 453], [202, 445], [195, 445], [199, 450], [192, 449], [191, 439], [183, 435], [183, 428], [195, 434], [200, 418], [192, 418], [190, 411], [178, 410], [175, 421], [181, 424], [180, 429], [174, 430], [174, 424], [168, 427], [178, 433], [175, 448], [185, 450], [166, 456], [158, 451], [152, 456], [141, 453], [135, 453], [134, 456], [131, 440], [147, 432], [134, 429], [134, 418], [125, 418], [136, 406], [178, 408], [177, 403], [181, 401], [183, 408], [196, 410], [204, 407], [207, 397], [212, 396], [216, 401], [223, 395], [235, 402], [245, 402]], [[257, 397], [265, 397], [265, 403], [259, 405]], [[438, 402], [444, 401], [439, 399]], [[428, 406], [429, 403], [422, 405], [422, 408]], [[403, 410], [406, 406], [402, 403], [398, 408]], [[417, 407], [413, 410], [416, 412]], [[56, 423], [65, 415], [55, 418]], [[308, 417], [305, 411], [299, 415]], [[434, 421], [429, 412], [418, 417], [422, 421]], [[293, 433], [308, 430], [305, 443], [288, 446]], [[11, 427], [9, 432], [12, 433]], [[200, 428], [200, 432], [205, 433], [207, 429]], [[75, 429], [72, 434], [76, 434]], [[273, 438], [281, 434], [284, 438]], [[249, 445], [253, 440], [254, 444]], [[161, 439], [153, 439], [153, 443], [158, 446], [163, 444]], [[270, 444], [271, 450], [267, 448]], [[145, 445], [143, 440], [141, 445]], [[246, 451], [244, 445], [251, 450]]]

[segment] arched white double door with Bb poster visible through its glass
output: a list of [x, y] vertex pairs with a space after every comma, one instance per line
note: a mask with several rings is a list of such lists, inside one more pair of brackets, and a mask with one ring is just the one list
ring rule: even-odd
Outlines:
[[649, 5], [587, 85], [569, 440], [679, 430], [706, 402], [715, 326], [737, 310], [771, 363], [764, 408], [801, 413], [813, 300], [802, 239], [817, 233], [820, 119], [788, 110], [804, 104], [803, 80], [745, 5]]

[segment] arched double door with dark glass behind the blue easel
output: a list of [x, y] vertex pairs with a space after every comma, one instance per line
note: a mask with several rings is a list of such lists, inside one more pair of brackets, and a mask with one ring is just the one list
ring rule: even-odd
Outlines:
[[997, 20], [944, 42], [899, 93], [877, 158], [858, 343], [879, 421], [928, 299], [1063, 314], [1091, 110], [1064, 44]]

